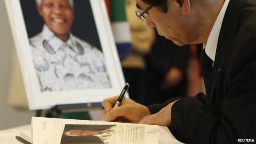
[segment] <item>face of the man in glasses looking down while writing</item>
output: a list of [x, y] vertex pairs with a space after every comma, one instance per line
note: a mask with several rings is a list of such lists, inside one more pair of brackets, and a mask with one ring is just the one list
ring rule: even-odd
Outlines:
[[[142, 0], [136, 0], [136, 2], [142, 10], [149, 7]], [[155, 27], [159, 35], [170, 39], [178, 46], [189, 44], [197, 37], [197, 33], [193, 31], [195, 28], [190, 23], [189, 18], [182, 14], [179, 9], [180, 5], [176, 0], [169, 0], [168, 2], [167, 13], [158, 10], [156, 7], [150, 9], [146, 24], [148, 27]]]

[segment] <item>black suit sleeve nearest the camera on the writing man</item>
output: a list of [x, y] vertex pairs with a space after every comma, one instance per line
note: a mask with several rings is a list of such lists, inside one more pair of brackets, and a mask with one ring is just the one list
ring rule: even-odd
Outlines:
[[[216, 107], [220, 110], [213, 110]], [[255, 35], [242, 43], [231, 61], [224, 98], [211, 109], [196, 98], [181, 98], [172, 106], [171, 133], [189, 144], [238, 144], [238, 139], [256, 141]]]

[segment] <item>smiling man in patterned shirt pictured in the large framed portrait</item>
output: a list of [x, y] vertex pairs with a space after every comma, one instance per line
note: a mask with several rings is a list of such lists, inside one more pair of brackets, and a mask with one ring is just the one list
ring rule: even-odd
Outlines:
[[41, 91], [110, 88], [101, 50], [75, 37], [73, 0], [36, 0], [42, 31], [30, 38]]

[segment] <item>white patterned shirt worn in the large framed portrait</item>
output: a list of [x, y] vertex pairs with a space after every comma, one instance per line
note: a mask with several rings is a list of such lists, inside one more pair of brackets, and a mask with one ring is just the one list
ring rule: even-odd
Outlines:
[[71, 32], [64, 42], [44, 25], [30, 46], [42, 92], [111, 87], [103, 53]]

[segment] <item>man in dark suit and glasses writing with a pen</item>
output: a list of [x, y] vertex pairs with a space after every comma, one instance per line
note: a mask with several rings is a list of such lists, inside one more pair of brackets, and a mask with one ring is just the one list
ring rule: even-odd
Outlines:
[[137, 6], [139, 18], [177, 45], [204, 43], [206, 96], [148, 107], [126, 99], [117, 108], [112, 97], [103, 101], [104, 119], [170, 126], [189, 144], [255, 143], [256, 1], [137, 0]]

